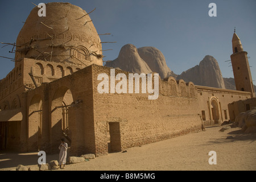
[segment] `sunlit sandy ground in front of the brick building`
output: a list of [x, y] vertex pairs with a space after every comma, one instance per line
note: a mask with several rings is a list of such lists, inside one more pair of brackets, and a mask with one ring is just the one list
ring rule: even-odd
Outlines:
[[[67, 164], [65, 169], [55, 171], [256, 170], [256, 134], [243, 134], [239, 127], [220, 132], [222, 127], [206, 127], [206, 131]], [[233, 139], [226, 139], [230, 136]], [[210, 151], [216, 151], [217, 164], [209, 164]], [[37, 164], [38, 158], [37, 153], [0, 153], [0, 170], [15, 169], [18, 164]], [[47, 162], [58, 158], [47, 155]]]

